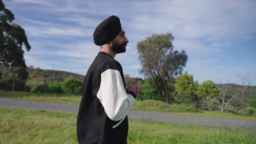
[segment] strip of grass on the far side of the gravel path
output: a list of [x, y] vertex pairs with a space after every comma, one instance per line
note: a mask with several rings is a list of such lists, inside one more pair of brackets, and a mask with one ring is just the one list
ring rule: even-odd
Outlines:
[[[29, 92], [0, 91], [0, 98], [30, 100], [30, 101], [39, 101], [39, 102], [56, 103], [56, 104], [79, 105], [82, 97], [80, 95], [71, 95], [71, 94], [53, 94], [53, 93], [39, 94], [39, 93], [29, 93]], [[198, 111], [198, 110], [195, 110], [193, 107], [182, 106], [182, 105], [169, 105], [161, 101], [154, 101], [154, 100], [145, 100], [145, 101], [137, 100], [133, 110], [173, 113], [177, 115], [186, 115], [186, 116], [226, 118], [226, 119], [236, 119], [236, 120], [256, 122], [256, 115], [241, 116], [241, 115], [235, 115], [234, 113], [226, 113], [226, 112], [223, 113], [219, 111]]]

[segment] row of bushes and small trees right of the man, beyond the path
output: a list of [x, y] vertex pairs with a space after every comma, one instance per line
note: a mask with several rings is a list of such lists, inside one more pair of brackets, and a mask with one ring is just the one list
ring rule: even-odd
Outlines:
[[[149, 77], [143, 82], [138, 81], [138, 84], [141, 87], [141, 95], [138, 97], [139, 100], [151, 99], [166, 101], [165, 93], [162, 93], [164, 97], [161, 98], [160, 91], [152, 77]], [[248, 87], [245, 92], [242, 92], [245, 86], [231, 83], [215, 84], [211, 80], [208, 80], [199, 85], [194, 80], [193, 75], [183, 73], [176, 77], [174, 84], [170, 85], [170, 87], [174, 91], [169, 92], [167, 95], [169, 104], [187, 105], [200, 110], [225, 111], [240, 115], [253, 115], [255, 113], [255, 86]], [[222, 99], [223, 89], [226, 89], [224, 99]], [[237, 97], [234, 98], [234, 95], [237, 95]]]

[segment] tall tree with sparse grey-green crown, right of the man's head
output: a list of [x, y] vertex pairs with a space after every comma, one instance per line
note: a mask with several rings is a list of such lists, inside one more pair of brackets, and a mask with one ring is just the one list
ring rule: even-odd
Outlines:
[[179, 52], [173, 49], [173, 40], [171, 33], [153, 34], [137, 44], [139, 61], [142, 65], [139, 73], [153, 78], [162, 101], [163, 93], [165, 94], [166, 103], [168, 103], [169, 93], [174, 91], [170, 87], [174, 82], [173, 77], [182, 73], [188, 60], [184, 50]]

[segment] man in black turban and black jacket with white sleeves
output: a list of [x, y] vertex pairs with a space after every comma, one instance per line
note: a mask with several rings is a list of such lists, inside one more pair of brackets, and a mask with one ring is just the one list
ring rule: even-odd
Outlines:
[[92, 62], [83, 85], [77, 118], [79, 143], [127, 143], [127, 114], [139, 94], [137, 85], [125, 90], [123, 69], [114, 57], [129, 43], [117, 16], [110, 16], [94, 32], [101, 50]]

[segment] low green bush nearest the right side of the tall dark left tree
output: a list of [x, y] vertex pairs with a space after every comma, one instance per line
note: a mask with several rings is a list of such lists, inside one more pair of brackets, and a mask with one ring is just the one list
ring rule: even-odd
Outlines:
[[46, 93], [48, 89], [48, 86], [44, 82], [29, 81], [26, 82], [26, 86], [33, 93]]

